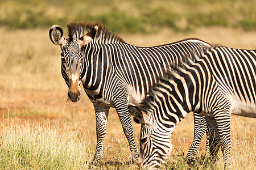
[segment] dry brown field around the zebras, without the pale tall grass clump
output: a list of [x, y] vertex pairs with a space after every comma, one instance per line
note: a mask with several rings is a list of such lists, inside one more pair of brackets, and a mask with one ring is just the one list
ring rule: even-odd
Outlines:
[[[67, 30], [64, 28], [64, 30]], [[77, 139], [84, 139], [92, 152], [96, 146], [96, 119], [93, 105], [82, 92], [81, 100], [74, 104], [67, 101], [67, 86], [60, 74], [60, 48], [49, 40], [48, 29], [7, 31], [0, 28], [0, 122], [1, 133], [9, 126], [38, 124], [59, 127], [61, 133], [71, 130]], [[67, 35], [67, 32], [66, 32]], [[153, 46], [197, 37], [212, 44], [233, 48], [255, 49], [256, 33], [231, 28], [200, 28], [195, 32], [179, 33], [170, 29], [152, 35], [123, 34], [126, 42], [137, 46]], [[167, 38], [168, 37], [168, 38]], [[192, 114], [189, 114], [172, 134], [174, 151], [168, 166], [174, 167], [187, 154], [193, 138]], [[9, 124], [12, 122], [12, 124]], [[133, 122], [134, 138], [138, 144], [140, 126]], [[256, 168], [256, 120], [232, 116], [232, 165], [233, 169]], [[205, 138], [197, 157], [204, 154]], [[181, 155], [181, 156], [180, 156]], [[221, 157], [216, 165], [207, 169], [223, 168]], [[110, 110], [104, 143], [103, 169], [135, 169], [126, 165], [130, 149], [114, 109]], [[86, 160], [90, 161], [90, 160]], [[112, 164], [118, 162], [117, 164]], [[175, 164], [176, 162], [176, 164]], [[88, 167], [85, 167], [85, 169]], [[189, 167], [187, 167], [189, 168]], [[195, 167], [191, 167], [192, 169]], [[204, 169], [204, 163], [197, 169]], [[80, 169], [80, 168], [78, 168]]]

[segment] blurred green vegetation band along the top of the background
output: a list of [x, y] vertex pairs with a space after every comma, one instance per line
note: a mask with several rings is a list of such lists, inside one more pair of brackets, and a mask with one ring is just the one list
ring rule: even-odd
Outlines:
[[213, 25], [255, 31], [255, 6], [254, 0], [0, 0], [0, 25], [48, 28], [100, 20], [114, 32], [127, 33], [154, 32], [161, 27], [191, 31]]

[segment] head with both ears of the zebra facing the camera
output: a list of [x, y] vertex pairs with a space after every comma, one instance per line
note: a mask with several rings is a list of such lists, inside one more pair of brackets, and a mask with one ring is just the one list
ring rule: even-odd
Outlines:
[[71, 36], [68, 39], [63, 37], [63, 29], [58, 25], [52, 25], [49, 30], [49, 37], [53, 44], [61, 48], [61, 74], [68, 85], [67, 96], [71, 101], [77, 102], [81, 97], [81, 78], [84, 69], [82, 46], [88, 44], [96, 35], [98, 27], [82, 36]]

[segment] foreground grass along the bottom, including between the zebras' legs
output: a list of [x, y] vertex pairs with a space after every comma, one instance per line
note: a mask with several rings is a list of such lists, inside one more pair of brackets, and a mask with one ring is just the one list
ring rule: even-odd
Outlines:
[[[95, 129], [86, 121], [77, 121], [79, 114], [62, 125], [52, 122], [30, 123], [18, 118], [5, 118], [0, 133], [0, 169], [137, 169], [130, 164], [130, 150], [123, 135], [118, 116], [110, 115], [108, 133], [104, 145], [102, 163], [89, 165], [93, 159]], [[93, 114], [87, 116], [90, 120]], [[81, 126], [81, 129], [77, 129]], [[172, 134], [173, 151], [161, 169], [223, 169], [222, 152], [212, 162], [202, 145], [191, 164], [185, 163], [185, 155], [192, 141], [192, 114], [181, 122]], [[138, 144], [139, 125], [134, 126]], [[232, 166], [233, 169], [255, 169], [255, 120], [232, 117]], [[183, 142], [186, 141], [186, 143]], [[94, 141], [94, 142], [92, 142]], [[174, 142], [176, 141], [176, 142]], [[177, 142], [178, 141], [178, 142]], [[188, 143], [187, 143], [188, 142]]]

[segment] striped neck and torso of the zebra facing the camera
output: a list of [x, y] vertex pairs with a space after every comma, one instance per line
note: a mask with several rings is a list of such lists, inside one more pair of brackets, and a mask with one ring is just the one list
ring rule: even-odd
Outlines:
[[[84, 56], [93, 51], [97, 53], [84, 57], [86, 70], [81, 79], [82, 85], [93, 103], [114, 107], [113, 95], [116, 91], [121, 92], [121, 96], [126, 95], [129, 103], [138, 103], [169, 66], [177, 63], [186, 50], [191, 55], [194, 49], [206, 45], [201, 43], [198, 40], [185, 40], [150, 48], [126, 43], [90, 43], [83, 50]], [[94, 49], [95, 46], [100, 46], [100, 49]], [[183, 50], [183, 46], [190, 49]], [[204, 52], [206, 46], [202, 47], [200, 50]]]

